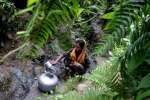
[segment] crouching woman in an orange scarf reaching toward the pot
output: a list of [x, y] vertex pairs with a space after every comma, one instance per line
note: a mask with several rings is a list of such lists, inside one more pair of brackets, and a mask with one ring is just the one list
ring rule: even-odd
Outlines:
[[86, 41], [84, 39], [76, 39], [74, 48], [63, 53], [56, 60], [50, 62], [56, 64], [62, 58], [64, 58], [64, 64], [68, 68], [67, 72], [72, 76], [75, 74], [82, 75], [86, 73], [90, 65], [86, 52]]

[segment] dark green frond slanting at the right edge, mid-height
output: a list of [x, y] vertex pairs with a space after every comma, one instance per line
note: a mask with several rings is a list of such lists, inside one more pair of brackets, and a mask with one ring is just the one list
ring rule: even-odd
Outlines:
[[[148, 54], [150, 47], [150, 33], [145, 33], [131, 44], [127, 51], [128, 71], [132, 72], [142, 64]], [[145, 51], [145, 53], [143, 53]]]

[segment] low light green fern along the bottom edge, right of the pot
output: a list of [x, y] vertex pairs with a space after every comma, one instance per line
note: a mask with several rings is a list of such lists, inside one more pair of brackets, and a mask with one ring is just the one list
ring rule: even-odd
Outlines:
[[80, 95], [76, 91], [71, 91], [65, 94], [60, 100], [113, 100], [116, 93], [107, 89], [89, 88], [83, 95]]

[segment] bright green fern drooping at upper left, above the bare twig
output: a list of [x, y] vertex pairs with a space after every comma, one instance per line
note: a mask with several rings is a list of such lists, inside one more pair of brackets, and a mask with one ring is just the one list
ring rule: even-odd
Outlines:
[[58, 32], [58, 26], [71, 21], [68, 10], [67, 6], [59, 0], [37, 3], [33, 17], [23, 34], [26, 41], [31, 41], [31, 49], [27, 51], [30, 55], [27, 53], [23, 55], [38, 56], [40, 54], [38, 49], [44, 46], [48, 38]]

